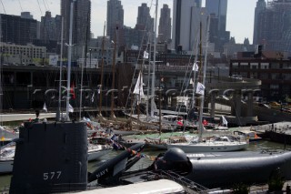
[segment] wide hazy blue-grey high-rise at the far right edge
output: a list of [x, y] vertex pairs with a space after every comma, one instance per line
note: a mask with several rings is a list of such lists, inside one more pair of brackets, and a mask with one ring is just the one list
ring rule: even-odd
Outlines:
[[257, 20], [257, 43], [265, 50], [291, 52], [291, 0], [268, 1]]

